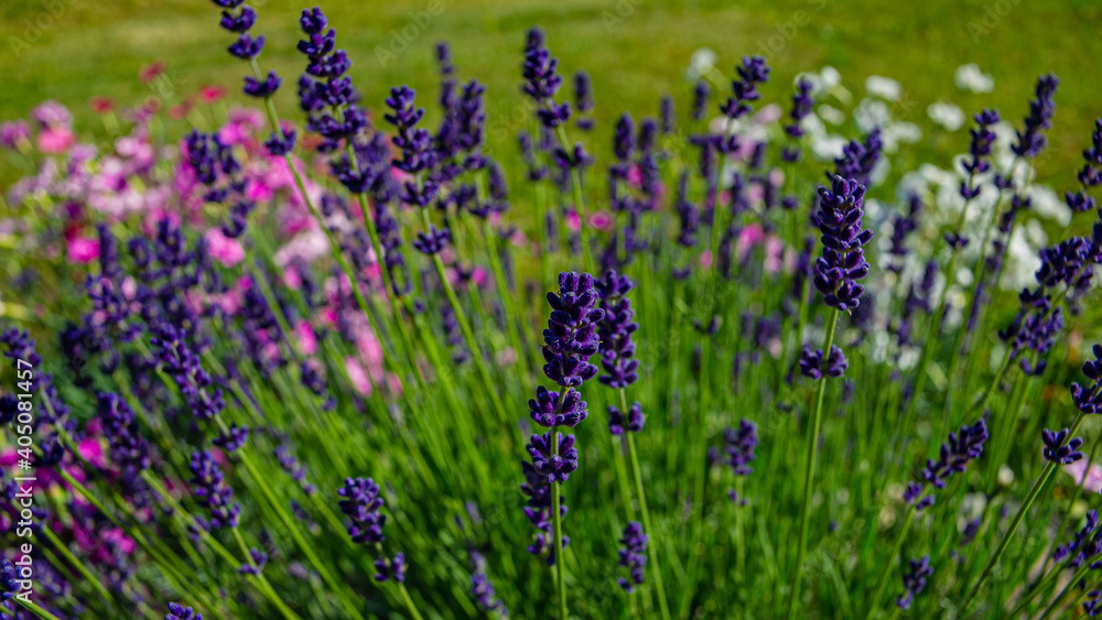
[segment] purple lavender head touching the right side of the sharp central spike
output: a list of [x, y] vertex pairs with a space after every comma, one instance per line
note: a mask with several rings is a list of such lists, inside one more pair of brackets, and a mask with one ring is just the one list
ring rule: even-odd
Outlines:
[[631, 281], [626, 275], [609, 270], [603, 281], [594, 283], [601, 293], [601, 309], [604, 318], [597, 327], [601, 339], [601, 365], [606, 374], [601, 382], [611, 388], [627, 388], [639, 379], [639, 360], [635, 359], [635, 342], [631, 334], [639, 324], [634, 320], [635, 311], [627, 297]]

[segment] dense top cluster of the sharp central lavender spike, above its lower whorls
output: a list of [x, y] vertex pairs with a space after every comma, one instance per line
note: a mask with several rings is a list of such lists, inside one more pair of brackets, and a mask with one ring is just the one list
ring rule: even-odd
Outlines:
[[588, 273], [560, 273], [559, 293], [548, 293], [551, 318], [543, 330], [543, 373], [564, 388], [576, 388], [597, 373], [588, 359], [601, 346], [596, 328], [605, 313], [596, 307], [598, 301]]

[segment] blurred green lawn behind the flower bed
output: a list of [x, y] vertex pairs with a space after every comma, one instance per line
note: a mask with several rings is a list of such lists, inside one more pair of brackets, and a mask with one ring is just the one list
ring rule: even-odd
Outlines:
[[[425, 20], [431, 1], [442, 11]], [[294, 45], [302, 4], [253, 4], [260, 11], [256, 30], [268, 36], [261, 64], [284, 76], [279, 106], [296, 119], [293, 84], [303, 61]], [[333, 0], [323, 9], [337, 28], [338, 45], [349, 51], [357, 86], [376, 110], [389, 86], [400, 83], [428, 87], [435, 97], [432, 47], [450, 41], [461, 78], [478, 77], [489, 87], [490, 150], [501, 159], [516, 152], [514, 133], [527, 127], [517, 120], [518, 81], [523, 33], [532, 24], [548, 31], [564, 73], [585, 68], [593, 75], [596, 118], [606, 130], [625, 109], [637, 117], [656, 113], [658, 97], [668, 91], [683, 110], [690, 89], [684, 68], [701, 46], [715, 50], [728, 74], [742, 55], [769, 51], [775, 81], [765, 96], [770, 100], [787, 101], [795, 74], [825, 64], [836, 67], [858, 97], [867, 75], [893, 77], [906, 90], [905, 104], [895, 108], [897, 118], [927, 130], [926, 107], [938, 99], [969, 113], [995, 106], [1019, 123], [1034, 79], [1054, 70], [1063, 81], [1051, 133], [1056, 153], [1041, 163], [1041, 172], [1057, 174], [1058, 187], [1073, 183], [1070, 167], [1093, 118], [1102, 115], [1102, 3], [1096, 0], [747, 0], [737, 6], [715, 0]], [[231, 37], [217, 21], [218, 9], [208, 0], [3, 2], [0, 119], [24, 117], [37, 101], [53, 98], [71, 106], [79, 129], [87, 131], [98, 127], [89, 98], [132, 104], [150, 96], [138, 70], [158, 58], [168, 63], [175, 98], [222, 84], [240, 100], [246, 67], [225, 53]], [[395, 45], [403, 30], [414, 33], [412, 41], [403, 37]], [[994, 76], [993, 94], [955, 88], [954, 69], [970, 62]], [[495, 123], [505, 129], [495, 131]], [[937, 140], [918, 149], [952, 153], [966, 144], [963, 132]]]

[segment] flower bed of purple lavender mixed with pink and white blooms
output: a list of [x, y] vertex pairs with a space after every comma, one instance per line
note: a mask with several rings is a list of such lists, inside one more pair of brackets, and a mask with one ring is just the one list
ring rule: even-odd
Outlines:
[[0, 618], [1102, 609], [1102, 120], [1041, 160], [1054, 75], [917, 144], [760, 56], [616, 109], [560, 29], [520, 93], [446, 43], [385, 87], [307, 8], [284, 85], [214, 4], [235, 106], [0, 124]]

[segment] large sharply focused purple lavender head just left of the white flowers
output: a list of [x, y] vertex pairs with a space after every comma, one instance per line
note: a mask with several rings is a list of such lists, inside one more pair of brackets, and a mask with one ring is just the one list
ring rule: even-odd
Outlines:
[[823, 302], [842, 312], [860, 305], [865, 289], [857, 281], [869, 270], [862, 247], [873, 238], [873, 231], [862, 229], [864, 196], [864, 185], [841, 176], [834, 177], [831, 189], [819, 188], [823, 253], [815, 261], [814, 283]]

